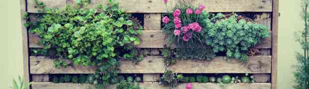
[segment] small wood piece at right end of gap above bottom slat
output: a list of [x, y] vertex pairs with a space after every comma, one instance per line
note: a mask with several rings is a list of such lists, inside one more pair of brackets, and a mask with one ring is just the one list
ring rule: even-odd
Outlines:
[[271, 80], [271, 74], [253, 74], [252, 76], [255, 79], [255, 83], [266, 83]]

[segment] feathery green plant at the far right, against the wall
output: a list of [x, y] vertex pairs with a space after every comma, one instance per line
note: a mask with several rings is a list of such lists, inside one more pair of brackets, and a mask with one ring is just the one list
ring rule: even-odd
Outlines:
[[302, 0], [302, 18], [304, 20], [304, 30], [299, 32], [297, 36], [297, 42], [301, 44], [303, 52], [296, 53], [296, 59], [298, 63], [295, 65], [295, 89], [309, 89], [309, 43], [308, 43], [308, 4], [309, 0]]

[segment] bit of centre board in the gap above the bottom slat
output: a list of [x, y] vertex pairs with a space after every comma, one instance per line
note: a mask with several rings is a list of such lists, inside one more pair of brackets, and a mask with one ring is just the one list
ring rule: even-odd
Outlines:
[[143, 74], [143, 82], [157, 82], [160, 74]]

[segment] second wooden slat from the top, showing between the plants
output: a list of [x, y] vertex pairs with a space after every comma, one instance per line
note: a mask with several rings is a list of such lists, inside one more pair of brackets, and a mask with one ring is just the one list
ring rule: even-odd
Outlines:
[[[164, 48], [167, 44], [165, 35], [159, 30], [144, 30], [141, 38], [141, 44], [137, 45], [140, 48]], [[40, 38], [37, 35], [29, 34], [29, 44], [32, 48], [42, 47], [37, 43]], [[267, 38], [262, 43], [256, 45], [257, 48], [271, 48], [272, 38]]]

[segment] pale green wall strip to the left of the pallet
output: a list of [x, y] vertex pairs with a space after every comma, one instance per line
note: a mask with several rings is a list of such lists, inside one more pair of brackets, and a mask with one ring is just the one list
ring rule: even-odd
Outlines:
[[13, 78], [23, 76], [19, 7], [19, 0], [0, 2], [0, 89], [9, 89]]

